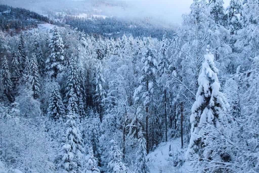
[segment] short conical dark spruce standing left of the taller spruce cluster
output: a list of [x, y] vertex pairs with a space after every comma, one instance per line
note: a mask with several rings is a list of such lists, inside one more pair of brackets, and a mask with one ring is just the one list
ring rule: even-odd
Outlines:
[[54, 85], [51, 95], [49, 96], [49, 105], [47, 116], [54, 121], [63, 119], [65, 110], [62, 102], [62, 98], [59, 93], [57, 85]]

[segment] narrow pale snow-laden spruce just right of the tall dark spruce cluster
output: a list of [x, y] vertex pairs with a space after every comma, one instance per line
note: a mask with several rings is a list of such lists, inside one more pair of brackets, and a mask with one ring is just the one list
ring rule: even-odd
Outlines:
[[93, 79], [95, 84], [95, 94], [93, 98], [94, 102], [96, 103], [97, 112], [100, 116], [100, 122], [102, 122], [103, 119], [103, 99], [106, 95], [106, 92], [103, 88], [105, 81], [103, 79], [102, 70], [102, 63], [101, 61], [97, 60]]

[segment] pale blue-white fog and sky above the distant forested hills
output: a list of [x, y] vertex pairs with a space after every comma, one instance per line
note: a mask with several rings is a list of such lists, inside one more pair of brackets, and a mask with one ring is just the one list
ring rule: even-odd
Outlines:
[[[224, 0], [225, 7], [229, 1]], [[2, 4], [26, 8], [41, 14], [47, 10], [98, 9], [98, 13], [102, 15], [127, 19], [150, 17], [157, 23], [168, 25], [180, 25], [182, 14], [190, 11], [192, 2], [193, 0], [0, 0]]]

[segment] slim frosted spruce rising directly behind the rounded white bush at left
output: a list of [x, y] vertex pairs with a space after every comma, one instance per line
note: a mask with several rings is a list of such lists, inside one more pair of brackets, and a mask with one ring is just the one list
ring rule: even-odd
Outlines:
[[38, 62], [37, 62], [35, 53], [32, 53], [29, 83], [33, 91], [33, 97], [34, 99], [37, 99], [40, 95], [40, 88], [39, 88], [40, 84], [39, 84]]

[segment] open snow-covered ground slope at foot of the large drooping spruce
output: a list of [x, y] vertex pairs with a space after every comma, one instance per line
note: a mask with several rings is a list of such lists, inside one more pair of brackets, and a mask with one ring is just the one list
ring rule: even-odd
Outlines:
[[[172, 157], [169, 157], [170, 145], [171, 153], [173, 155]], [[184, 153], [186, 152], [186, 149], [187, 148], [184, 149]], [[149, 160], [150, 173], [160, 173], [160, 170], [162, 170], [163, 173], [190, 172], [191, 167], [189, 162], [185, 162], [179, 168], [174, 167], [173, 157], [178, 150], [182, 150], [181, 138], [171, 139], [167, 143], [160, 143], [155, 151], [150, 152], [147, 155]]]

